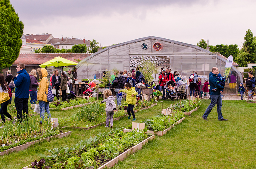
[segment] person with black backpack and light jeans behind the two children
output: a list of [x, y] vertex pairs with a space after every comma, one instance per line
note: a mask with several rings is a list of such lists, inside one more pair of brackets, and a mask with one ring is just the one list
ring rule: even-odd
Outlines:
[[115, 89], [116, 97], [117, 97], [117, 106], [121, 106], [122, 96], [119, 96], [119, 90], [123, 89], [123, 86], [126, 82], [126, 77], [123, 77], [123, 72], [120, 71], [120, 74], [113, 80], [112, 88]]

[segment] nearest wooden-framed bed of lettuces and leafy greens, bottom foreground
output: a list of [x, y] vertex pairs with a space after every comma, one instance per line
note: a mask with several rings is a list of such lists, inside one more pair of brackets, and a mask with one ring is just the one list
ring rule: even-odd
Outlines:
[[[41, 154], [40, 156], [44, 159], [39, 163], [45, 167], [57, 168], [78, 168], [78, 166], [81, 166], [79, 168], [110, 168], [129, 154], [142, 149], [144, 144], [154, 138], [155, 135], [146, 135], [143, 131], [123, 133], [120, 128], [113, 129], [99, 133], [93, 138], [81, 140], [70, 148], [65, 146], [49, 150], [52, 154], [47, 156]], [[38, 168], [39, 163], [34, 161], [32, 165], [23, 169], [30, 169], [33, 166]]]

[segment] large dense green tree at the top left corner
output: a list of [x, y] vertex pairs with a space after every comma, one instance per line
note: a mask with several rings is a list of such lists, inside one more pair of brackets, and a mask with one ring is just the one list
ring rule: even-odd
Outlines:
[[9, 0], [0, 0], [0, 70], [11, 66], [22, 46], [24, 25]]

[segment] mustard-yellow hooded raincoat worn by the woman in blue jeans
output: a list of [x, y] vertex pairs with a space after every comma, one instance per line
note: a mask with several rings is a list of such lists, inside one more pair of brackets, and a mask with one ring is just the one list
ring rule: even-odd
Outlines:
[[[48, 93], [48, 87], [49, 87], [49, 81], [47, 79], [47, 70], [45, 68], [41, 68], [40, 69], [42, 72], [42, 79], [40, 81], [39, 84], [39, 88], [38, 88], [38, 93], [37, 93], [37, 100], [39, 101], [45, 101], [45, 102], [49, 102], [47, 101], [47, 93]], [[46, 92], [46, 94], [45, 94]]]

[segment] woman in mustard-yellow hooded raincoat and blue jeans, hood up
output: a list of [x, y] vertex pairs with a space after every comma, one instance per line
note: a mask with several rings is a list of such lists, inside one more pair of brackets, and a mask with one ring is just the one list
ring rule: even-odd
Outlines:
[[40, 106], [40, 117], [41, 117], [41, 123], [44, 119], [45, 112], [47, 113], [47, 117], [51, 118], [51, 113], [49, 109], [49, 101], [47, 101], [47, 94], [48, 94], [48, 87], [49, 87], [49, 81], [47, 79], [47, 70], [45, 68], [38, 68], [37, 73], [39, 75], [40, 84], [38, 88], [37, 93], [37, 100], [39, 101]]

